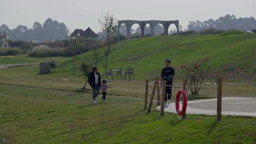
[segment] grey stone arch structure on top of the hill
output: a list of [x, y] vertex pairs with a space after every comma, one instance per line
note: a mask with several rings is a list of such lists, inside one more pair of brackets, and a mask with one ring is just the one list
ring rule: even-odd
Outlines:
[[165, 35], [168, 35], [168, 28], [171, 24], [174, 24], [177, 29], [177, 34], [179, 34], [179, 20], [169, 20], [169, 21], [164, 21], [164, 20], [119, 20], [118, 21], [118, 27], [117, 27], [117, 36], [118, 36], [118, 42], [119, 42], [119, 28], [122, 24], [125, 24], [127, 27], [127, 38], [131, 38], [131, 27], [134, 24], [138, 24], [141, 29], [141, 37], [144, 37], [144, 30], [146, 27], [146, 24], [149, 24], [150, 29], [151, 29], [151, 36], [154, 36], [155, 34], [155, 26], [157, 24], [162, 24], [165, 29]]

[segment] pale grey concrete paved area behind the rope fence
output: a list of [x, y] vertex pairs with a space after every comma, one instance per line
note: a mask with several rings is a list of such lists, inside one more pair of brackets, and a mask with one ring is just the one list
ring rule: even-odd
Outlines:
[[[160, 110], [160, 107], [157, 109]], [[165, 111], [176, 113], [175, 103], [165, 107]], [[217, 99], [188, 101], [186, 112], [187, 114], [216, 115]], [[222, 98], [222, 115], [256, 117], [256, 98]]]

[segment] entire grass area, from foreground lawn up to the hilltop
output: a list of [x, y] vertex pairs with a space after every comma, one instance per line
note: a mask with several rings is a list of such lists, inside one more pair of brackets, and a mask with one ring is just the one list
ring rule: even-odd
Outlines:
[[[6, 144], [256, 144], [256, 117], [223, 116], [216, 122], [215, 116], [187, 115], [178, 120], [175, 114], [159, 117], [159, 111], [146, 114], [143, 109], [144, 79], [152, 82], [159, 76], [166, 57], [173, 60], [180, 78], [175, 85], [182, 85], [179, 65], [202, 55], [218, 75], [255, 72], [255, 47], [256, 35], [247, 34], [159, 36], [112, 45], [110, 67], [135, 67], [140, 80], [110, 82], [107, 101], [96, 105], [89, 87], [80, 90], [85, 82], [81, 73], [71, 74], [71, 58], [0, 57], [0, 64], [60, 61], [60, 67], [47, 75], [38, 74], [39, 65], [0, 69], [0, 139], [5, 138]], [[93, 61], [92, 52], [78, 55], [76, 66], [84, 61]], [[101, 55], [101, 70], [103, 62]], [[245, 81], [234, 76], [223, 82]], [[223, 91], [255, 94], [255, 87], [224, 85]], [[216, 92], [216, 86], [204, 87], [201, 95], [189, 99], [216, 98]]]

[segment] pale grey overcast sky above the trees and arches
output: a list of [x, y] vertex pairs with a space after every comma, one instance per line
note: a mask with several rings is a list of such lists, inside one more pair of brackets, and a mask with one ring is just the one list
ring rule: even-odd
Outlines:
[[73, 31], [91, 27], [100, 31], [98, 15], [110, 11], [118, 20], [180, 20], [219, 18], [226, 14], [256, 18], [256, 0], [0, 0], [0, 25], [28, 28], [52, 18]]

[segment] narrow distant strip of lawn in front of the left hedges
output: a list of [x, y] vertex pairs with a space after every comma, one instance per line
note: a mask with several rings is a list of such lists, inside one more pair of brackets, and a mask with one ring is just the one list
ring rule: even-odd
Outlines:
[[0, 56], [0, 64], [21, 64], [21, 63], [39, 63], [44, 61], [62, 61], [67, 58], [65, 57], [27, 57], [26, 55], [16, 55], [16, 56]]

